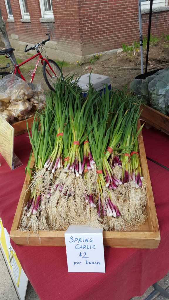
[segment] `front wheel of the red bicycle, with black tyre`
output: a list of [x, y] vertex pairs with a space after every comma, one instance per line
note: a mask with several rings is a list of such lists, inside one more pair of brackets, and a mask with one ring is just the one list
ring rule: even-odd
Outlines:
[[[57, 63], [54, 60], [48, 59], [48, 62], [50, 64], [52, 70], [48, 66], [47, 62], [44, 61], [43, 67], [42, 67], [43, 76], [44, 76], [46, 84], [51, 89], [51, 91], [55, 91], [54, 83], [56, 83], [57, 79], [60, 78], [61, 70], [60, 70], [60, 67], [57, 65]], [[63, 75], [62, 75], [62, 79], [63, 79]]]

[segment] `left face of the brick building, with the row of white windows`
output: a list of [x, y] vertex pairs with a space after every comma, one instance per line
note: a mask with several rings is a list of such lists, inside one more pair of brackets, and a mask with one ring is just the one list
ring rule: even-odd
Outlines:
[[[0, 0], [3, 19], [8, 15], [4, 0]], [[51, 41], [56, 42], [54, 47], [58, 51], [81, 55], [81, 43], [79, 32], [78, 1], [53, 0], [54, 22], [43, 22], [41, 18], [40, 4], [38, 0], [28, 0], [28, 10], [31, 22], [21, 22], [22, 18], [19, 0], [11, 0], [11, 8], [14, 22], [6, 22], [6, 29], [10, 35], [17, 35], [18, 40], [24, 43], [35, 44], [46, 39], [48, 32]], [[50, 46], [51, 44], [46, 44]]]

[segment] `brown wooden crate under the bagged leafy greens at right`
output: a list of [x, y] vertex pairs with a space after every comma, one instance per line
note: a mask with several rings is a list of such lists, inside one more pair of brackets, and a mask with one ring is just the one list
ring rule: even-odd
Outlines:
[[146, 121], [147, 124], [155, 127], [158, 130], [169, 134], [169, 117], [145, 104], [141, 104], [140, 118]]

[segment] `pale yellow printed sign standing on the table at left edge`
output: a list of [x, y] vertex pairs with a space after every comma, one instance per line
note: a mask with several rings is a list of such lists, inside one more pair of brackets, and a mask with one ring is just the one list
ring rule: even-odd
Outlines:
[[0, 116], [0, 153], [13, 169], [14, 128]]

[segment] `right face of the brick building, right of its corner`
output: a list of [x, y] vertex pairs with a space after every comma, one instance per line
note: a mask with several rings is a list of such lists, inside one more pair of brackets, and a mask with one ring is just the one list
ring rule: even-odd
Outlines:
[[[117, 49], [122, 43], [139, 41], [137, 0], [79, 1], [82, 54]], [[149, 14], [142, 15], [143, 35], [147, 36]], [[169, 33], [169, 11], [152, 14], [152, 35]]]

